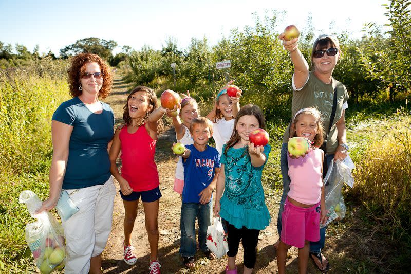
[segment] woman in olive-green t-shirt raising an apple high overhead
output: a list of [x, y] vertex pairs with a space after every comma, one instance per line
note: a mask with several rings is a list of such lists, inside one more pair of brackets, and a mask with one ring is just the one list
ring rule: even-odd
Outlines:
[[[333, 159], [343, 160], [347, 156], [348, 146], [346, 144], [346, 127], [345, 127], [345, 109], [348, 107], [348, 92], [345, 86], [332, 77], [337, 61], [341, 57], [340, 44], [334, 35], [323, 34], [317, 38], [313, 44], [311, 53], [311, 71], [308, 62], [305, 60], [300, 49], [298, 49], [298, 38], [290, 41], [284, 39], [285, 34], [279, 35], [283, 40], [283, 46], [290, 52], [291, 61], [294, 65], [294, 74], [292, 77], [293, 97], [291, 103], [291, 113], [295, 113], [306, 107], [316, 107], [322, 114], [323, 125], [326, 130], [326, 146], [324, 148], [326, 163]], [[333, 104], [335, 98], [335, 111], [333, 113]], [[333, 117], [333, 118], [332, 118]], [[331, 126], [330, 126], [331, 123]], [[287, 193], [290, 190], [290, 178], [288, 177], [287, 163], [287, 142], [289, 129], [284, 133], [283, 146], [281, 150], [281, 171], [283, 175], [283, 195], [280, 202], [278, 213], [278, 235], [281, 233], [281, 213], [284, 210], [284, 202]], [[326, 170], [323, 170], [323, 174]], [[310, 242], [310, 256], [316, 267], [321, 272], [327, 272], [330, 264], [322, 254], [321, 250], [325, 243], [325, 228], [320, 230], [321, 239], [319, 242]], [[278, 242], [275, 244], [278, 247]], [[307, 260], [299, 261], [299, 264], [307, 265]]]

